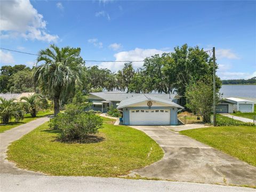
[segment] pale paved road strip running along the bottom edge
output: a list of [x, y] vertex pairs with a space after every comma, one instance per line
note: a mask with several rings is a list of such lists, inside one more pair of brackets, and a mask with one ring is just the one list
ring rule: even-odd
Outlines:
[[[41, 191], [172, 191], [172, 192], [238, 192], [254, 191], [244, 187], [228, 187], [202, 183], [130, 180], [97, 177], [53, 177], [39, 175], [1, 175], [1, 192]], [[10, 182], [11, 181], [11, 182]]]

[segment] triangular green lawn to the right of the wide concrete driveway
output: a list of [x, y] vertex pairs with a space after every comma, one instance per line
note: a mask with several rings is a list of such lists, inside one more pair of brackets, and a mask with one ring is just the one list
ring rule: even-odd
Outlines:
[[219, 126], [179, 133], [256, 166], [256, 127]]

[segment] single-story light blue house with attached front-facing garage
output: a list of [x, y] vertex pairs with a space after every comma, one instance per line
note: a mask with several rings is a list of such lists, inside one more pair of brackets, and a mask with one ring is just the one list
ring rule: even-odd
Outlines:
[[176, 94], [140, 94], [124, 92], [90, 93], [93, 110], [103, 113], [113, 106], [123, 113], [124, 125], [177, 125], [180, 96]]

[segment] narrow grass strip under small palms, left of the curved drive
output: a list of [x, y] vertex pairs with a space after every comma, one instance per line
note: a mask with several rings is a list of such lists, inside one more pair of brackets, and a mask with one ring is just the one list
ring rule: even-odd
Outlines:
[[0, 133], [4, 132], [6, 130], [10, 130], [10, 129], [12, 129], [14, 127], [17, 127], [19, 125], [22, 125], [24, 123], [28, 123], [30, 121], [33, 121], [37, 118], [40, 118], [40, 117], [43, 117], [43, 116], [46, 116], [46, 115], [51, 115], [51, 114], [53, 114], [53, 111], [46, 110], [46, 111], [39, 111], [36, 117], [31, 117], [30, 114], [26, 114], [24, 119], [22, 119], [19, 122], [15, 122], [14, 119], [11, 119], [11, 121], [8, 124], [0, 124]]

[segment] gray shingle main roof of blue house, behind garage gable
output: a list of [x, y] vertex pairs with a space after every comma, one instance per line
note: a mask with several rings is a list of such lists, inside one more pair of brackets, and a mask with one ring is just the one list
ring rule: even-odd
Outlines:
[[[103, 100], [106, 101], [122, 101], [125, 99], [129, 98], [134, 98], [139, 95], [143, 95], [141, 93], [125, 93], [125, 92], [118, 92], [118, 91], [113, 91], [113, 92], [96, 92], [96, 93], [90, 93], [92, 95], [95, 95], [97, 97], [102, 98]], [[177, 94], [158, 94], [158, 93], [149, 93], [146, 95], [151, 95], [156, 98], [164, 99], [164, 100], [169, 100], [172, 101], [173, 99], [177, 98]], [[176, 98], [175, 98], [176, 97]], [[179, 98], [179, 97], [178, 97]], [[89, 96], [90, 99], [90, 96]]]

